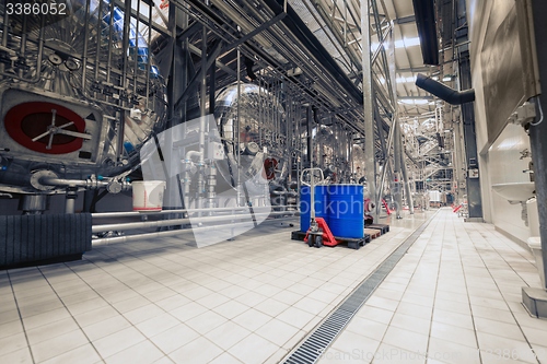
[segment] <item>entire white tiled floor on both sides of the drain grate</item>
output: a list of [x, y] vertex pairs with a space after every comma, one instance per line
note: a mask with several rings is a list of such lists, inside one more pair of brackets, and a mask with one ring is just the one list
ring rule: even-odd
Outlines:
[[[200, 249], [165, 238], [0, 271], [0, 363], [277, 363], [431, 213], [359, 250], [265, 224]], [[440, 210], [321, 363], [547, 363], [524, 285], [539, 286], [527, 250]]]

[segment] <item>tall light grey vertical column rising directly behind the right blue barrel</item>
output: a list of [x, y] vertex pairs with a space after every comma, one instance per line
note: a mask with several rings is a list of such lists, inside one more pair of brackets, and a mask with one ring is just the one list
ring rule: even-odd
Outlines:
[[[366, 161], [366, 184], [371, 198], [376, 196], [376, 174], [374, 155], [374, 109], [372, 108], [372, 63], [371, 63], [371, 19], [369, 0], [361, 0], [361, 49], [363, 70], [364, 154]], [[374, 201], [377, 206], [377, 199]], [[377, 221], [377, 210], [373, 213]]]

